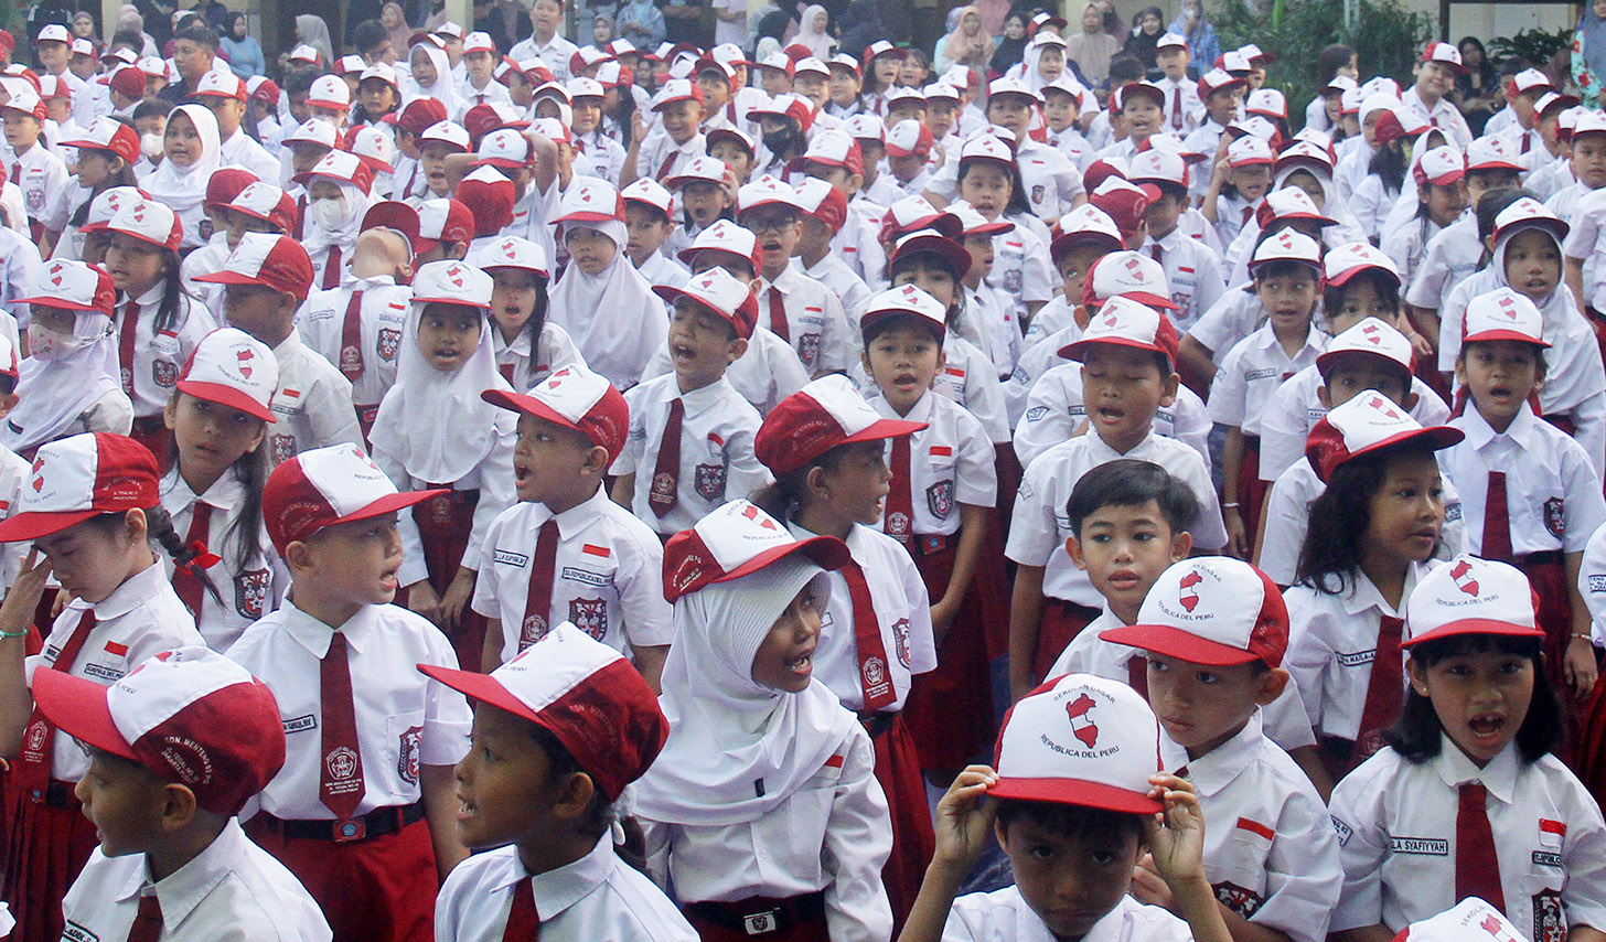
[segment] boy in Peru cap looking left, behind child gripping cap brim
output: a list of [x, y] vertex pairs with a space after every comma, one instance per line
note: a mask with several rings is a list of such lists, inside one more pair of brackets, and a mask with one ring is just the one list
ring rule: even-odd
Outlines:
[[[1100, 637], [1148, 661], [1142, 690], [1164, 730], [1161, 762], [1200, 791], [1204, 875], [1227, 928], [1323, 942], [1344, 883], [1338, 836], [1322, 794], [1262, 732], [1288, 685], [1288, 608], [1277, 586], [1233, 558], [1179, 562], [1134, 626]], [[1155, 876], [1145, 865], [1135, 895], [1166, 905], [1171, 892]]]

